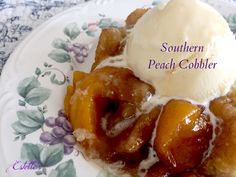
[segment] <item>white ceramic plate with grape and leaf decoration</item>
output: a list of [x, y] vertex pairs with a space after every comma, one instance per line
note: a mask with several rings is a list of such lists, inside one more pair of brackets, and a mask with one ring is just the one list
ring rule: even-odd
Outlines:
[[[207, 2], [229, 20], [236, 32], [235, 3]], [[59, 126], [53, 129], [45, 120], [52, 117], [53, 121], [63, 108], [72, 70], [89, 71], [101, 29], [118, 27], [134, 9], [156, 3], [152, 0], [85, 3], [55, 16], [21, 43], [0, 80], [0, 176], [109, 176], [107, 169], [99, 169], [73, 151], [73, 139], [65, 121], [60, 124], [57, 119]], [[52, 131], [57, 138], [47, 133]], [[42, 143], [40, 137], [54, 145]], [[38, 163], [42, 168], [38, 169]]]

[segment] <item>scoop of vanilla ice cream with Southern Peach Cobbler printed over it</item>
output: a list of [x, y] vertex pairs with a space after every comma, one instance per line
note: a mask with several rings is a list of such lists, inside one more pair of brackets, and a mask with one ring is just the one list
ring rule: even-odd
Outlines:
[[[203, 52], [163, 52], [163, 43], [204, 46]], [[236, 78], [236, 41], [225, 19], [200, 0], [170, 0], [149, 10], [132, 29], [124, 52], [134, 74], [162, 97], [205, 102], [225, 95]], [[150, 68], [151, 59], [175, 69]], [[215, 69], [183, 69], [178, 63], [209, 59]]]

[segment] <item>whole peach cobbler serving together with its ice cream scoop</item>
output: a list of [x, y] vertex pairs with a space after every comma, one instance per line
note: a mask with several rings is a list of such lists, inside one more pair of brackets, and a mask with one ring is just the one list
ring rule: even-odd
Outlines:
[[[114, 176], [235, 177], [235, 46], [200, 0], [137, 9], [126, 26], [103, 29], [91, 72], [74, 72], [64, 100], [78, 150]], [[217, 66], [148, 69], [169, 58]]]

